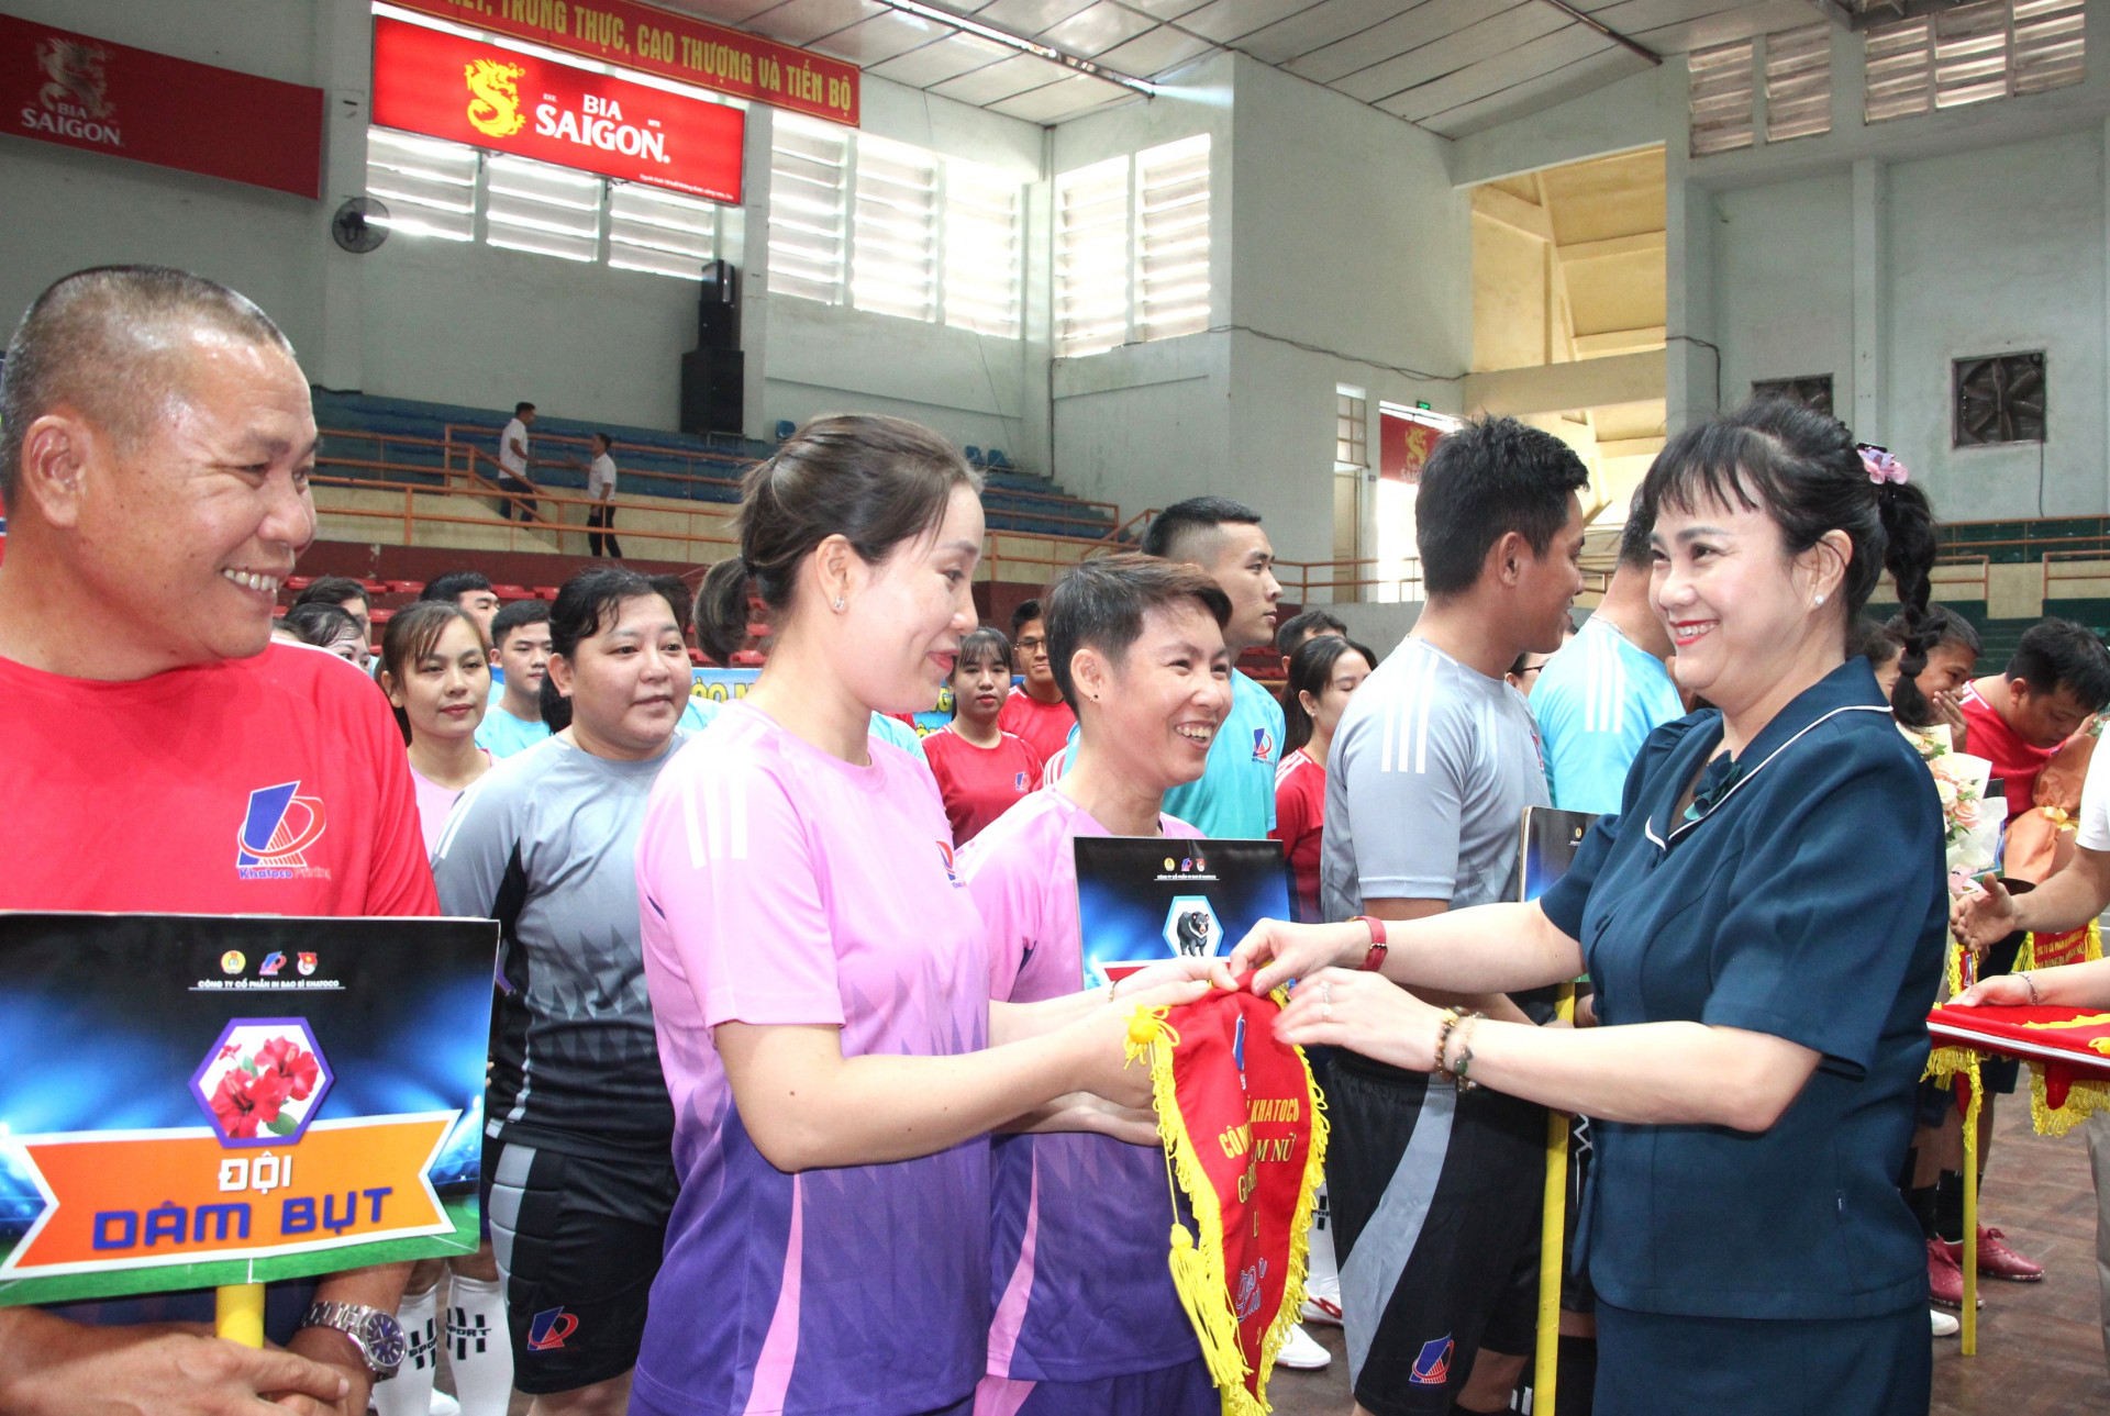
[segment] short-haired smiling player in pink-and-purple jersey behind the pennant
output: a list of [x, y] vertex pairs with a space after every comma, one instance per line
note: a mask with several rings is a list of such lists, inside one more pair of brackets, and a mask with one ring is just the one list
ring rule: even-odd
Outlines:
[[[996, 998], [1087, 986], [1078, 836], [1198, 836], [1160, 808], [1165, 791], [1203, 774], [1230, 711], [1228, 618], [1215, 580], [1146, 555], [1085, 561], [1049, 595], [1049, 658], [1076, 709], [1076, 762], [960, 853], [994, 941]], [[975, 1416], [1222, 1410], [1165, 1264], [1163, 1148], [1110, 1135], [998, 1140], [994, 1205], [996, 1317]]]

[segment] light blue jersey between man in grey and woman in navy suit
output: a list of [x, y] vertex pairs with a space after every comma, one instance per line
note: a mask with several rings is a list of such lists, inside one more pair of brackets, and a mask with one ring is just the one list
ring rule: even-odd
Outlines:
[[1627, 770], [1661, 724], [1686, 715], [1663, 661], [1591, 616], [1532, 688], [1547, 787], [1561, 810], [1616, 812]]

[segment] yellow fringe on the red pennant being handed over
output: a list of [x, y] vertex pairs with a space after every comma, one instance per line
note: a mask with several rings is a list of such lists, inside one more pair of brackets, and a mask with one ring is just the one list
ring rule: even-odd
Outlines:
[[[1274, 1002], [1287, 1007], [1289, 998], [1283, 990], [1274, 990]], [[1201, 1156], [1194, 1154], [1186, 1118], [1179, 1114], [1179, 1093], [1173, 1080], [1173, 1049], [1179, 1047], [1179, 1034], [1167, 1021], [1167, 1015], [1169, 1009], [1135, 1009], [1135, 1017], [1129, 1019], [1127, 1059], [1135, 1061], [1139, 1055], [1150, 1053], [1150, 1091], [1158, 1112], [1158, 1137], [1165, 1142], [1167, 1178], [1177, 1180], [1179, 1188], [1188, 1192], [1194, 1222], [1201, 1226], [1201, 1243], [1194, 1243], [1194, 1235], [1179, 1224], [1177, 1205], [1173, 1207], [1169, 1256], [1173, 1289], [1177, 1289], [1179, 1306], [1186, 1308], [1188, 1319], [1194, 1323], [1194, 1336], [1201, 1340], [1209, 1380], [1215, 1382], [1224, 1401], [1224, 1416], [1268, 1416], [1274, 1410], [1268, 1399], [1255, 1397], [1245, 1389], [1251, 1367], [1245, 1363], [1245, 1351], [1239, 1346], [1239, 1313], [1230, 1302], [1230, 1277], [1224, 1273], [1224, 1207], [1217, 1201], [1215, 1186], [1209, 1184], [1209, 1171], [1203, 1169]], [[1165, 1047], [1156, 1047], [1156, 1042], [1165, 1042]], [[1289, 1230], [1289, 1277], [1283, 1283], [1283, 1306], [1260, 1340], [1258, 1386], [1262, 1391], [1266, 1391], [1268, 1374], [1274, 1370], [1274, 1355], [1281, 1353], [1283, 1342], [1289, 1338], [1289, 1327], [1296, 1325], [1298, 1310], [1304, 1306], [1310, 1218], [1319, 1184], [1325, 1180], [1327, 1123], [1321, 1114], [1325, 1099], [1319, 1095], [1319, 1085], [1312, 1080], [1310, 1061], [1302, 1049], [1298, 1049], [1298, 1061], [1304, 1064], [1304, 1095], [1312, 1104], [1312, 1144], [1310, 1154], [1304, 1159], [1304, 1180], [1298, 1186], [1298, 1209]]]

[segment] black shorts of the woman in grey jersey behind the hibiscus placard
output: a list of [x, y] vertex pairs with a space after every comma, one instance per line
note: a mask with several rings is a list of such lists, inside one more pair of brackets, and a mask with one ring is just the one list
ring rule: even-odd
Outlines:
[[679, 1192], [673, 1156], [485, 1142], [483, 1165], [513, 1386], [553, 1395], [635, 1367]]

